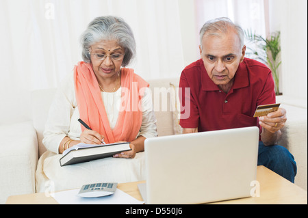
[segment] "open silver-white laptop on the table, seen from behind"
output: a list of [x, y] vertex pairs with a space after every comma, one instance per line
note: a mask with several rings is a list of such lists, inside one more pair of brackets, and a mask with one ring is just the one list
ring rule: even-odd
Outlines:
[[153, 137], [144, 141], [146, 204], [201, 204], [251, 196], [259, 128]]

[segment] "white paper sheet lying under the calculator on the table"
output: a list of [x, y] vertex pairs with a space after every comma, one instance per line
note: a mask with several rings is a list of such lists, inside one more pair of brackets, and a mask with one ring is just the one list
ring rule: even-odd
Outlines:
[[104, 197], [79, 197], [79, 190], [55, 192], [53, 198], [59, 204], [144, 204], [120, 189], [116, 189], [113, 195]]

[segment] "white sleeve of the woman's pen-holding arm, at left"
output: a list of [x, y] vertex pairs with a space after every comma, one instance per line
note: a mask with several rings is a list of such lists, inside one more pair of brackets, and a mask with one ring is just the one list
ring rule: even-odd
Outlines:
[[70, 131], [70, 118], [77, 107], [73, 74], [62, 81], [49, 109], [42, 143], [51, 152], [59, 153], [60, 142]]

